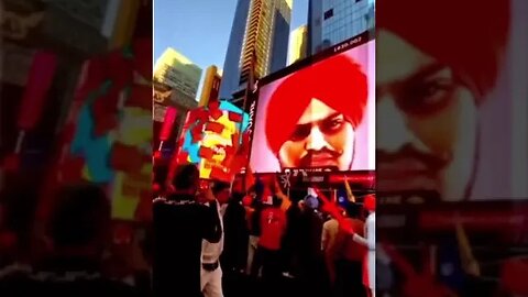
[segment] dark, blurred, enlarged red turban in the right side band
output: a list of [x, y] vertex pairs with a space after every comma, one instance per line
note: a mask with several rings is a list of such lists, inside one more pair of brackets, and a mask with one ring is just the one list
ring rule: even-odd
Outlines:
[[508, 42], [509, 14], [510, 0], [380, 1], [376, 28], [450, 66], [482, 97], [495, 86]]

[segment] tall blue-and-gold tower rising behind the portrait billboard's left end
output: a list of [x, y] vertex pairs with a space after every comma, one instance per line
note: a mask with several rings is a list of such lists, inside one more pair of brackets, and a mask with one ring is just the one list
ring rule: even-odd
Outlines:
[[293, 0], [239, 0], [220, 84], [220, 98], [245, 88], [255, 77], [286, 66]]

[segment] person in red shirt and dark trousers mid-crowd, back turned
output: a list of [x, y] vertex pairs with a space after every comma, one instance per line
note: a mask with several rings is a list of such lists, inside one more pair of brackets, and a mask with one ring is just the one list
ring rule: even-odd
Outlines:
[[282, 200], [276, 195], [263, 198], [261, 212], [261, 237], [251, 275], [256, 277], [262, 268], [265, 280], [275, 282], [280, 277], [280, 243], [286, 231], [286, 213], [280, 209]]

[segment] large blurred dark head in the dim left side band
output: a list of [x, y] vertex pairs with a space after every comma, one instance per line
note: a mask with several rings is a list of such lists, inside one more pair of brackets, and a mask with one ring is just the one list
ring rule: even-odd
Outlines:
[[57, 193], [47, 232], [57, 246], [82, 246], [103, 238], [110, 216], [110, 201], [99, 186], [63, 186]]

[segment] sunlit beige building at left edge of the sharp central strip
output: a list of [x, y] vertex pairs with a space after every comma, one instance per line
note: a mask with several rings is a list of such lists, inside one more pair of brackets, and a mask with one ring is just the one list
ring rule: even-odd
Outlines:
[[176, 107], [176, 136], [185, 122], [187, 111], [198, 106], [196, 95], [200, 78], [201, 68], [170, 47], [165, 50], [154, 65], [154, 89], [158, 90], [158, 96], [154, 98], [154, 111], [157, 113], [155, 116], [163, 119], [164, 106]]

